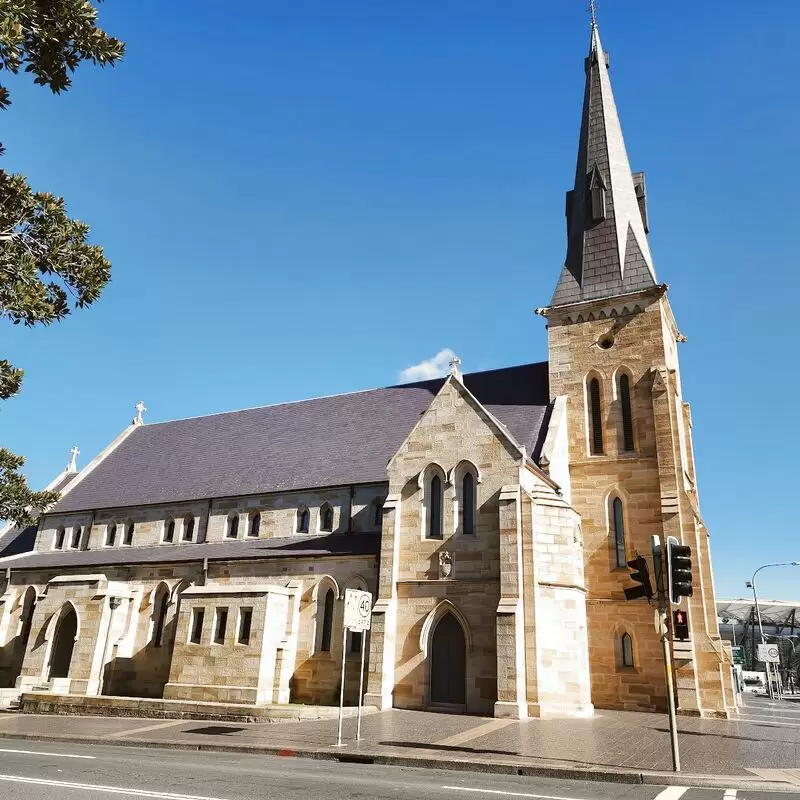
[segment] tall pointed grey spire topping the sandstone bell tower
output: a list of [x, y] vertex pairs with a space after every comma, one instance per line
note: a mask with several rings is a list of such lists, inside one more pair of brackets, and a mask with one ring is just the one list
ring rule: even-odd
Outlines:
[[655, 285], [647, 242], [644, 174], [631, 174], [611, 91], [608, 56], [592, 13], [575, 188], [567, 192], [567, 258], [551, 305], [613, 297]]

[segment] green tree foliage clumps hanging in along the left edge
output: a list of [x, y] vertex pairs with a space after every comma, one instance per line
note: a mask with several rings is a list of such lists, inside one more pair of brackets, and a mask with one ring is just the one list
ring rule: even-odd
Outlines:
[[[124, 50], [97, 26], [89, 0], [0, 0], [0, 76], [30, 73], [34, 83], [59, 94], [82, 62], [113, 65]], [[10, 103], [0, 82], [0, 110]], [[97, 300], [111, 265], [88, 237], [89, 226], [69, 217], [62, 198], [34, 191], [24, 176], [0, 169], [0, 318], [46, 325]], [[19, 392], [22, 374], [0, 359], [0, 399]], [[0, 448], [0, 519], [20, 524], [58, 497], [31, 491], [19, 472], [24, 463]]]

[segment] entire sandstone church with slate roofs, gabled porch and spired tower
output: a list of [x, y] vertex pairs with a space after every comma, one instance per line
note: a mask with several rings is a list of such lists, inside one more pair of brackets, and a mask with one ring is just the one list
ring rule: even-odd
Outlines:
[[[595, 25], [585, 67], [567, 255], [538, 310], [548, 362], [454, 360], [440, 380], [158, 424], [139, 409], [33, 552], [0, 562], [0, 686], [334, 703], [343, 648], [352, 676], [366, 646], [380, 708], [661, 709], [653, 609], [623, 596], [659, 534], [696, 564], [680, 710], [735, 708], [683, 337]], [[348, 587], [376, 595], [366, 640], [342, 634]]]

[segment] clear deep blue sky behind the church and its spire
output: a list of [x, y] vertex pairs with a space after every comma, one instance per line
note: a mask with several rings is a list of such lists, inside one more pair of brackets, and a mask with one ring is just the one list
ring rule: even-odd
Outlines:
[[[583, 0], [110, 0], [127, 42], [60, 97], [10, 82], [4, 166], [67, 198], [114, 264], [101, 301], [4, 325], [26, 370], [2, 442], [46, 484], [132, 418], [543, 360], [563, 263]], [[800, 559], [789, 0], [606, 0], [603, 43], [671, 285], [718, 595]], [[232, 13], [235, 12], [235, 13]], [[789, 301], [789, 302], [786, 302]], [[762, 573], [800, 599], [800, 573]]]

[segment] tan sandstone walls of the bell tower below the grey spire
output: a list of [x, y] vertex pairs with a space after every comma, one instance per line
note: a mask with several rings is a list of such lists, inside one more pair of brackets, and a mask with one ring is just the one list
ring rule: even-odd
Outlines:
[[[653, 534], [662, 540], [675, 535], [692, 544], [695, 552], [702, 551], [703, 544], [695, 535], [700, 517], [691, 446], [682, 420], [677, 419], [679, 412], [683, 414], [677, 328], [661, 289], [634, 298], [554, 309], [548, 323], [550, 392], [568, 398], [572, 505], [581, 517], [588, 587], [592, 699], [605, 708], [663, 709], [664, 669], [653, 613], [644, 601], [624, 599], [629, 570], [616, 566], [611, 500], [618, 496], [624, 504], [628, 559], [637, 552], [649, 555]], [[601, 347], [603, 340], [611, 346]], [[631, 381], [635, 443], [631, 453], [622, 447], [621, 371]], [[589, 377], [601, 382], [604, 448], [600, 455], [592, 455], [589, 449]], [[695, 591], [690, 625], [696, 638], [718, 637], [715, 619], [712, 623], [710, 616], [693, 610], [696, 604], [714, 607], [713, 585], [705, 581]], [[633, 667], [622, 664], [623, 633], [633, 640]], [[685, 709], [702, 705], [709, 713], [722, 710], [718, 666], [711, 669], [702, 656], [697, 666], [705, 677], [698, 685], [688, 676], [680, 702]]]

